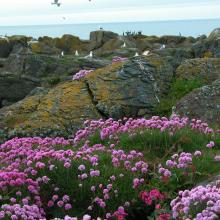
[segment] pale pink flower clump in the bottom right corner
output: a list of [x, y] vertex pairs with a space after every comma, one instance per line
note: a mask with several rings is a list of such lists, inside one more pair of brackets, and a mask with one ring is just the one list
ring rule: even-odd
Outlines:
[[172, 200], [171, 207], [175, 219], [219, 219], [220, 181], [180, 191], [179, 196]]

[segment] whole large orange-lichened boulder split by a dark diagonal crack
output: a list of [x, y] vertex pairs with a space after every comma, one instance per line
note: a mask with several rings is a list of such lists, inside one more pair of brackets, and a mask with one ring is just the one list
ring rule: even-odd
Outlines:
[[159, 56], [113, 63], [2, 108], [0, 127], [11, 135], [65, 135], [86, 119], [152, 116], [172, 78], [172, 66]]

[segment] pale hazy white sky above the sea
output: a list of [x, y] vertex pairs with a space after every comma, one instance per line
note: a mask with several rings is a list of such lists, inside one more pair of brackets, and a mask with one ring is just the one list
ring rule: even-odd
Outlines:
[[220, 18], [220, 0], [51, 1], [0, 0], [0, 26]]

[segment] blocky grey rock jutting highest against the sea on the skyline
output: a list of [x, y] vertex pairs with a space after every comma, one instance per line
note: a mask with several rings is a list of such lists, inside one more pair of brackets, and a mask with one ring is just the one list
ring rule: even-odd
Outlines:
[[111, 31], [93, 31], [90, 33], [90, 45], [89, 50], [95, 50], [103, 46], [107, 41], [114, 39], [118, 34]]

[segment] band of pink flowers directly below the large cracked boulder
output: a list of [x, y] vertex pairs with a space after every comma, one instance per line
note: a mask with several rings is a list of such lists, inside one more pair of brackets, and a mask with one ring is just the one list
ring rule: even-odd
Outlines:
[[[100, 132], [101, 139], [115, 139], [122, 133], [129, 133], [131, 136], [136, 133], [144, 132], [148, 129], [157, 129], [161, 132], [168, 131], [170, 135], [173, 135], [176, 131], [183, 129], [189, 125], [188, 118], [173, 117], [167, 119], [166, 117], [160, 118], [154, 116], [151, 119], [133, 119], [124, 118], [124, 120], [115, 121], [112, 118], [107, 120], [87, 120], [84, 123], [85, 128], [79, 130], [74, 137], [74, 143], [78, 144], [81, 140], [88, 138], [96, 132]], [[197, 128], [200, 130], [199, 128]]]

